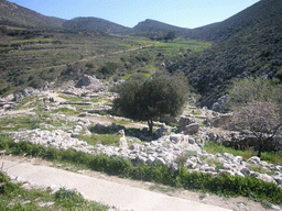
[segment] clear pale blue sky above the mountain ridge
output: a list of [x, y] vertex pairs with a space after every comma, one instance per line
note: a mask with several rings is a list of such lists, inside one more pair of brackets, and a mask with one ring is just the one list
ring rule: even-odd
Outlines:
[[145, 19], [194, 29], [224, 21], [259, 0], [9, 0], [48, 16], [95, 16], [133, 27]]

